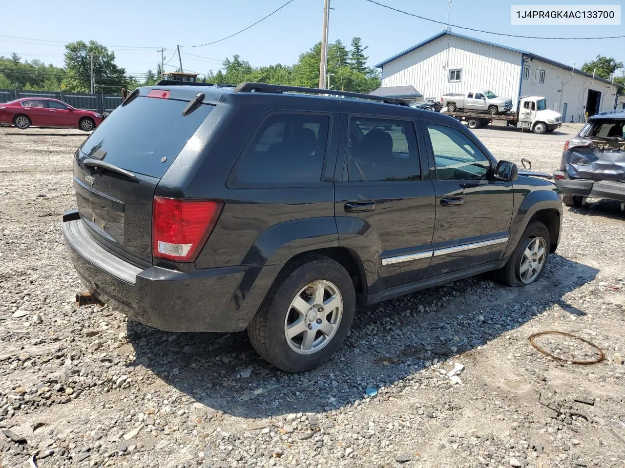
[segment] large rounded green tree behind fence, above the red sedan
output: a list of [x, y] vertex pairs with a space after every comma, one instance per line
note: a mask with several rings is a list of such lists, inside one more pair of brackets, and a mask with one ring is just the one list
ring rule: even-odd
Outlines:
[[89, 92], [91, 79], [91, 57], [93, 72], [96, 77], [96, 89], [104, 93], [118, 93], [126, 87], [132, 89], [136, 80], [126, 77], [126, 70], [115, 64], [115, 52], [96, 41], [71, 42], [65, 46], [65, 67], [67, 76], [63, 80], [63, 89], [76, 92]]

